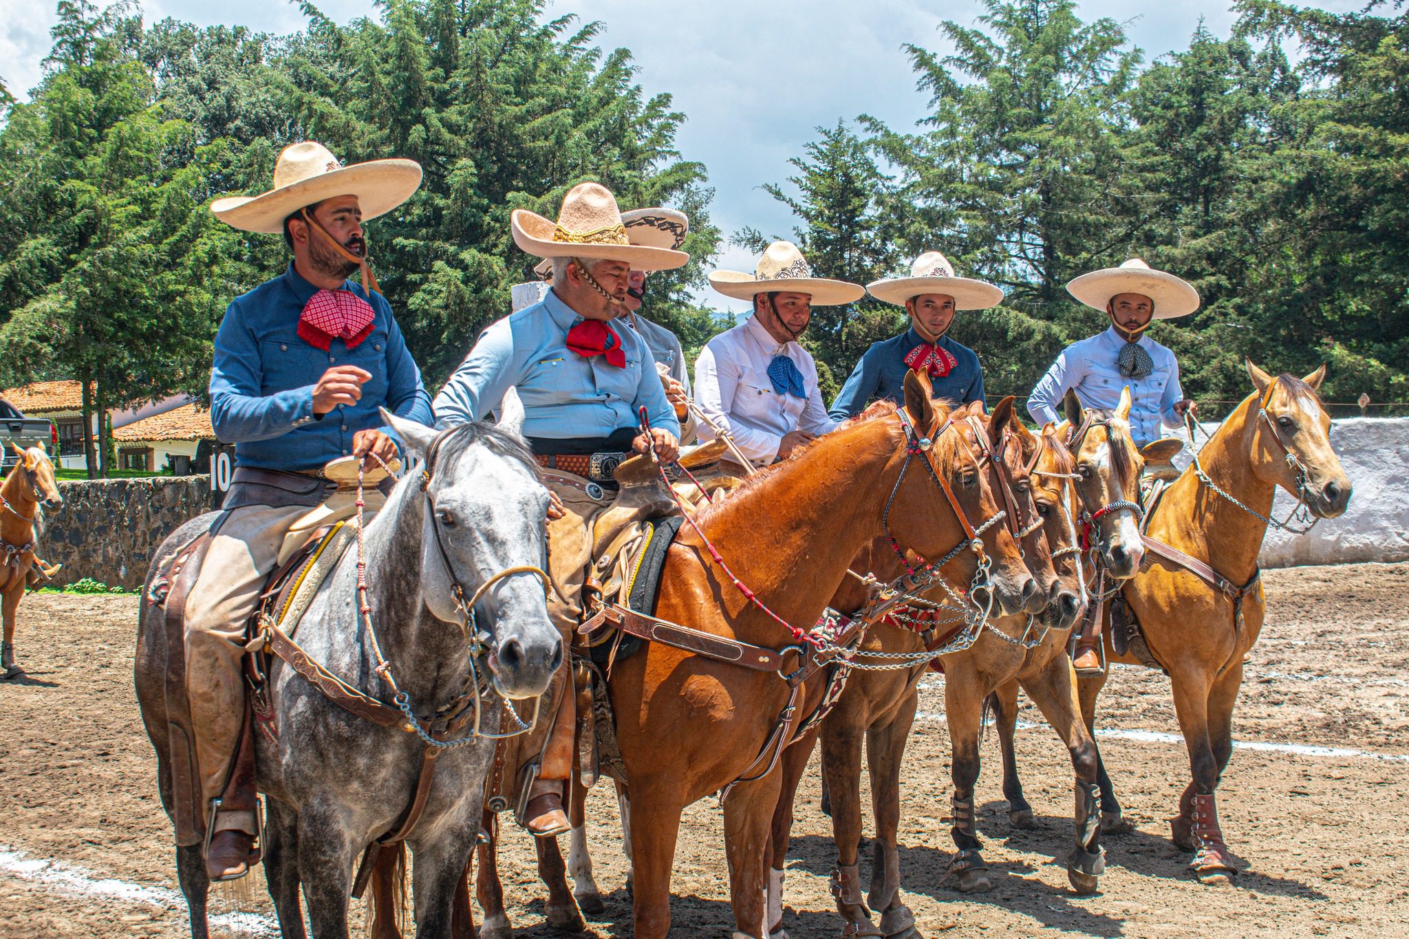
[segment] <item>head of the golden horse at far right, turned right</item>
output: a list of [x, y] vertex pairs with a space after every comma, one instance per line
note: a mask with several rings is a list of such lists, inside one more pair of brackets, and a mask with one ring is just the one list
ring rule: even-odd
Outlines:
[[1253, 473], [1303, 501], [1317, 518], [1344, 514], [1351, 483], [1332, 449], [1330, 415], [1316, 394], [1326, 366], [1303, 379], [1274, 379], [1247, 359], [1247, 373], [1261, 403], [1248, 455]]

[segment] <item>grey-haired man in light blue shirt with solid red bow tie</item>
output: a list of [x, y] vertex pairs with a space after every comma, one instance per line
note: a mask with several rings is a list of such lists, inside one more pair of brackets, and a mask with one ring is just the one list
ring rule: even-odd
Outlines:
[[[511, 215], [514, 244], [552, 262], [542, 300], [485, 329], [435, 396], [442, 425], [475, 421], [514, 389], [524, 407], [523, 434], [561, 505], [548, 522], [548, 612], [564, 648], [582, 619], [582, 584], [590, 563], [593, 519], [612, 505], [612, 470], [635, 453], [664, 463], [678, 456], [681, 425], [665, 397], [645, 339], [619, 320], [631, 270], [679, 267], [689, 256], [674, 248], [635, 245], [616, 197], [582, 183], [562, 200], [558, 220], [527, 210]], [[650, 431], [640, 427], [645, 410]], [[575, 695], [564, 669], [544, 698], [548, 736], [541, 750], [510, 763], [520, 780], [519, 818], [538, 836], [568, 829], [562, 809], [573, 760]], [[517, 739], [514, 746], [531, 746]]]

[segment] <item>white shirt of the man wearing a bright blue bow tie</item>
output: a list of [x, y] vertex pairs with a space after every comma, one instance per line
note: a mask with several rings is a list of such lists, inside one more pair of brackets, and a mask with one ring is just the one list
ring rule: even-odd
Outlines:
[[[768, 365], [786, 355], [802, 373], [806, 398], [774, 391]], [[779, 344], [757, 315], [719, 334], [695, 360], [695, 401], [720, 427], [727, 427], [734, 443], [755, 463], [772, 463], [783, 435], [792, 431], [821, 435], [837, 427], [821, 405], [817, 365], [796, 342]], [[700, 439], [714, 439], [709, 425], [700, 425]]]

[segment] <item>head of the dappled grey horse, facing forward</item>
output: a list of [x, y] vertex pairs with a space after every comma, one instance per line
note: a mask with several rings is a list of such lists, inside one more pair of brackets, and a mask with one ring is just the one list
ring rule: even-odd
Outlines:
[[[507, 421], [433, 431], [386, 410], [382, 418], [424, 467], [403, 487], [423, 498], [420, 583], [437, 619], [488, 632], [489, 669], [506, 697], [544, 693], [562, 663], [562, 641], [548, 619], [548, 490]], [[420, 493], [416, 489], [420, 489]], [[468, 607], [468, 614], [464, 611]], [[475, 636], [469, 636], [475, 642]]]

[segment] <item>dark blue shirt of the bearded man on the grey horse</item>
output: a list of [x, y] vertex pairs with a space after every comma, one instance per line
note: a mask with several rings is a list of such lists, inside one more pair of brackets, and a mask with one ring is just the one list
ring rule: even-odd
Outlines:
[[[235, 463], [273, 470], [321, 469], [352, 452], [352, 435], [380, 428], [376, 408], [434, 424], [421, 370], [406, 349], [392, 307], [379, 293], [351, 280], [344, 289], [372, 304], [372, 332], [355, 348], [334, 339], [328, 351], [299, 338], [299, 315], [317, 293], [289, 262], [280, 277], [235, 297], [216, 334], [210, 369], [210, 422]], [[356, 404], [313, 414], [313, 386], [335, 365], [355, 365], [372, 374]]]

